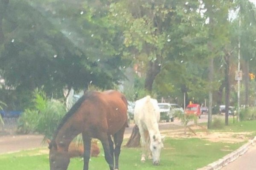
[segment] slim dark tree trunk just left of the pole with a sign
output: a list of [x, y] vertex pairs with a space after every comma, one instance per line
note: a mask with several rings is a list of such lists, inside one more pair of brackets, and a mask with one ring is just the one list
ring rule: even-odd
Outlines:
[[228, 111], [230, 105], [230, 80], [229, 80], [229, 68], [230, 68], [230, 54], [225, 55], [225, 125], [228, 125]]

